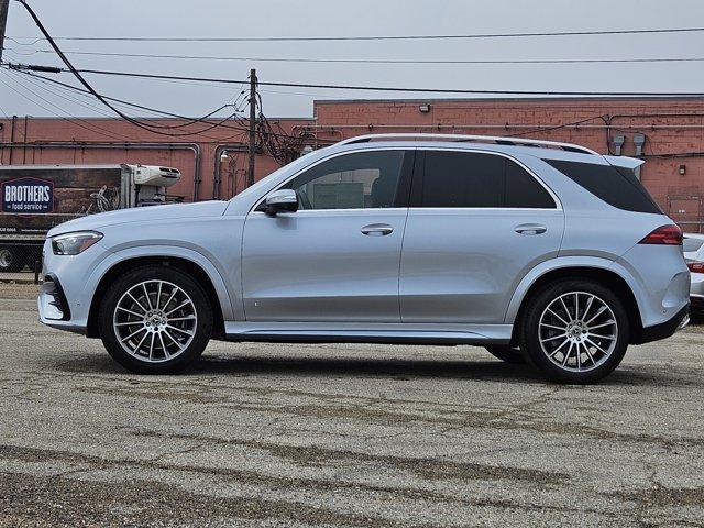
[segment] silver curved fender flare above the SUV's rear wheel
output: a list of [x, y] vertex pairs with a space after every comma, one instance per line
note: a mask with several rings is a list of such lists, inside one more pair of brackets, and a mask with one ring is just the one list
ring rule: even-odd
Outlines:
[[518, 283], [518, 287], [514, 292], [510, 302], [508, 304], [504, 322], [506, 324], [513, 324], [516, 321], [516, 316], [518, 316], [518, 310], [526, 298], [526, 294], [528, 294], [528, 290], [536, 280], [544, 276], [547, 273], [568, 267], [593, 267], [615, 273], [626, 282], [636, 298], [638, 310], [640, 314], [644, 312], [644, 307], [647, 306], [647, 299], [642, 297], [642, 288], [638, 286], [636, 277], [634, 277], [628, 270], [617, 262], [598, 256], [559, 256], [557, 258], [541, 262], [524, 276], [520, 283]]

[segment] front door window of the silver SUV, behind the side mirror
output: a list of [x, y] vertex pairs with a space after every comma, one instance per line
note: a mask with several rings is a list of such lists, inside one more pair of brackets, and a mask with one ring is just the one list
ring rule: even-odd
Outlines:
[[404, 151], [343, 154], [292, 179], [300, 209], [381, 209], [394, 207]]

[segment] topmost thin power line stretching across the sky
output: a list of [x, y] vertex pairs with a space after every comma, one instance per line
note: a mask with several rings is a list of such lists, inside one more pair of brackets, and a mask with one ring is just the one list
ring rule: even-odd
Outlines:
[[[55, 41], [109, 41], [109, 42], [328, 42], [328, 41], [442, 41], [469, 38], [531, 38], [553, 36], [592, 36], [592, 35], [637, 35], [662, 33], [695, 33], [704, 28], [658, 28], [636, 30], [590, 30], [557, 32], [521, 32], [521, 33], [480, 33], [463, 35], [362, 35], [362, 36], [56, 36]], [[34, 45], [46, 37], [8, 36], [8, 40], [20, 45]], [[20, 42], [32, 40], [31, 43]]]

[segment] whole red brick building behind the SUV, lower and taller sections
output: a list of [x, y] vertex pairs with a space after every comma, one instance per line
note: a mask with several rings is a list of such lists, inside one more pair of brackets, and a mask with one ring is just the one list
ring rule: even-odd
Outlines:
[[[566, 141], [646, 160], [641, 180], [688, 230], [704, 220], [704, 99], [483, 99], [316, 101], [314, 118], [273, 119], [289, 146], [323, 146], [352, 135], [441, 132], [525, 135]], [[177, 120], [151, 120], [174, 124]], [[165, 138], [121, 120], [0, 119], [0, 162], [143, 163], [182, 169], [172, 191], [187, 199], [227, 198], [245, 185], [246, 136], [240, 129]], [[238, 123], [237, 127], [246, 127]], [[183, 129], [193, 130], [193, 129]], [[257, 155], [256, 178], [274, 170]]]

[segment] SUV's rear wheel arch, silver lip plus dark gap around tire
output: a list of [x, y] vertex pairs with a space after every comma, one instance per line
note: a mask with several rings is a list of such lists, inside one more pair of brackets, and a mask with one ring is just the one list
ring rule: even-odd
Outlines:
[[609, 261], [590, 264], [563, 263], [526, 276], [514, 294], [506, 314], [506, 322], [514, 326], [512, 343], [517, 342], [522, 315], [536, 293], [550, 283], [565, 278], [591, 279], [613, 289], [625, 304], [631, 330], [629, 341], [631, 344], [639, 343], [642, 340], [644, 326], [638, 300], [627, 278], [610, 268], [609, 264]]

